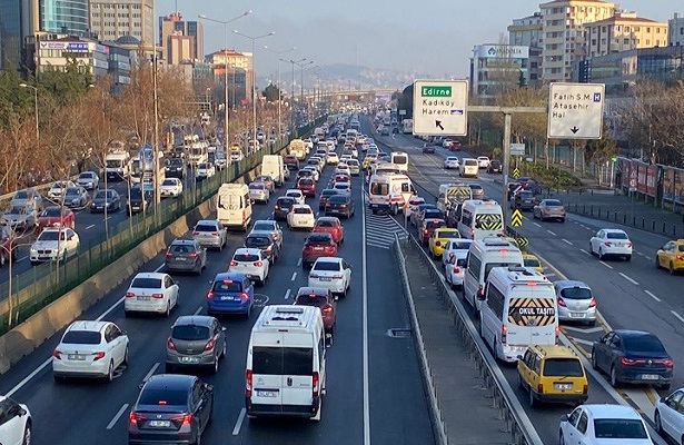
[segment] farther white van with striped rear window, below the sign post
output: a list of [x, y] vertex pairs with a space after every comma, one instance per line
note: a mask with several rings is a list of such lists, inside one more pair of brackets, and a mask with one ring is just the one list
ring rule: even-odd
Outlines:
[[463, 201], [458, 218], [460, 236], [482, 239], [504, 234], [504, 211], [498, 202], [484, 199]]

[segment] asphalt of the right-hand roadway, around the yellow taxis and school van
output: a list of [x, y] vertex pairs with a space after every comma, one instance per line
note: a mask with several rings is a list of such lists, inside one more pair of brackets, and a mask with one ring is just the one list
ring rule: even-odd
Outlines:
[[[438, 148], [435, 155], [426, 155], [419, 148], [423, 141], [413, 136], [378, 137], [376, 140], [388, 149], [402, 149], [409, 154], [409, 175], [418, 185], [420, 195], [428, 198], [428, 202], [432, 201], [430, 196], [434, 199], [437, 195], [439, 184], [463, 180], [456, 170], [444, 170], [443, 160], [446, 156], [454, 155], [459, 158], [469, 157], [467, 152], [450, 152]], [[487, 197], [502, 199], [502, 175], [488, 175], [480, 170], [478, 179], [467, 181], [482, 184]], [[605, 227], [619, 227], [630, 234], [634, 243], [634, 255], [630, 263], [599, 261], [588, 254], [589, 238], [595, 231]], [[415, 229], [409, 231], [415, 235]], [[541, 222], [533, 220], [531, 214], [525, 214], [523, 227], [518, 233], [527, 237], [529, 250], [541, 257], [545, 264], [545, 274], [552, 281], [564, 277], [583, 280], [591, 286], [597, 299], [598, 309], [605, 323], [599, 323], [596, 327], [562, 326], [564, 334], [562, 338], [565, 337], [566, 343], [572, 344], [585, 357], [588, 357], [592, 342], [608, 329], [644, 329], [661, 338], [675, 363], [684, 359], [684, 303], [678, 298], [681, 293], [673, 291], [673, 289], [681, 288], [682, 277], [670, 276], [654, 266], [655, 251], [668, 240], [667, 238], [572, 214], [568, 214], [565, 224]], [[437, 265], [440, 267], [439, 264]], [[460, 293], [458, 291], [457, 295]], [[466, 307], [468, 307], [467, 304]], [[478, 323], [474, 315], [472, 318], [474, 323]], [[557, 442], [558, 417], [568, 413], [572, 407], [545, 405], [531, 409], [527, 393], [517, 386], [515, 366], [502, 365], [500, 367], [543, 442]], [[644, 417], [653, 424], [653, 403], [657, 397], [670, 392], [661, 390], [658, 394], [651, 387], [631, 385], [621, 387], [616, 392], [609, 386], [605, 376], [591, 369], [588, 360], [585, 360], [585, 367], [589, 373], [588, 403], [630, 403], [641, 409]], [[675, 373], [672, 387], [674, 389], [682, 386], [684, 386], [684, 377]]]

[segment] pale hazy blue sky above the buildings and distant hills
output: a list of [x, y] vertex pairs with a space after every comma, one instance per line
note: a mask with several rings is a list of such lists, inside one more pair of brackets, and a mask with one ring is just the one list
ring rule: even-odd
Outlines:
[[[314, 66], [359, 65], [432, 77], [466, 78], [473, 47], [498, 43], [513, 19], [538, 11], [532, 0], [156, 0], [155, 16], [178, 9], [184, 20], [198, 14], [230, 20], [228, 47], [251, 51], [251, 40], [237, 36], [276, 34], [256, 41], [258, 76], [278, 70], [276, 51], [297, 49], [286, 59], [313, 60]], [[624, 0], [622, 9], [667, 21], [684, 12], [681, 0]], [[156, 21], [157, 23], [157, 21]], [[224, 26], [205, 21], [205, 53], [224, 47]], [[289, 66], [281, 63], [280, 69]]]

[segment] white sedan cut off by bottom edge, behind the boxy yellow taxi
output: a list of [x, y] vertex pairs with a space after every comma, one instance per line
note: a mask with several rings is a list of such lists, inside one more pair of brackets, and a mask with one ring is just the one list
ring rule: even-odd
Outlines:
[[651, 445], [644, 419], [631, 406], [579, 405], [561, 416], [561, 445]]

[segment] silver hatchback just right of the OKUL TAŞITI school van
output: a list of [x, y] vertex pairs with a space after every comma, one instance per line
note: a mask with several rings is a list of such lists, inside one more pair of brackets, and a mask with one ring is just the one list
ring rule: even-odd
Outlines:
[[583, 281], [562, 279], [554, 283], [558, 298], [558, 320], [596, 323], [596, 299], [592, 288]]

